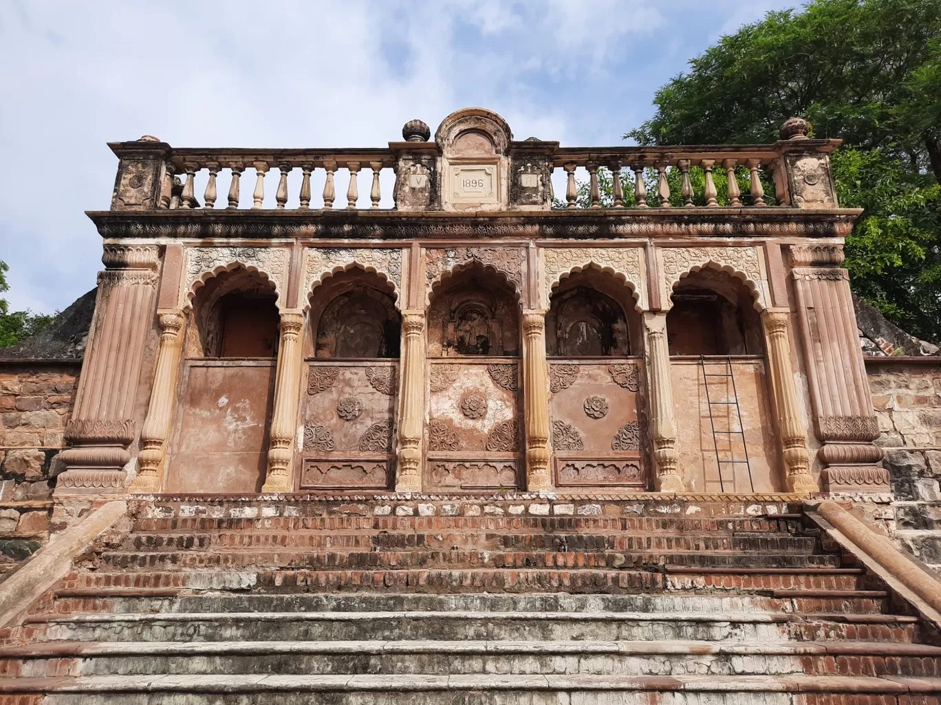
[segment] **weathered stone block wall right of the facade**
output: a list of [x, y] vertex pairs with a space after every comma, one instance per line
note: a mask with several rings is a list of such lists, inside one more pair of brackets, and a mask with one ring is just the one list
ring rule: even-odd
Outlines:
[[941, 568], [941, 358], [867, 358], [897, 540]]

